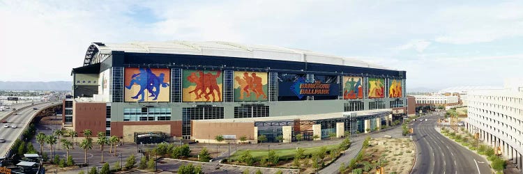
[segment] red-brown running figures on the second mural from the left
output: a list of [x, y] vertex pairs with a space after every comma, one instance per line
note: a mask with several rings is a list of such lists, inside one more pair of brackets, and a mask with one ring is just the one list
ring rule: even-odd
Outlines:
[[222, 101], [221, 88], [218, 86], [218, 77], [221, 75], [221, 71], [216, 71], [216, 74], [211, 72], [204, 73], [199, 70], [197, 72], [191, 72], [187, 77], [187, 80], [193, 84], [196, 84], [194, 90], [190, 90], [189, 93], [195, 93], [196, 97], [194, 100], [199, 100], [204, 95], [206, 102], [211, 101], [211, 95], [213, 97], [213, 102]]

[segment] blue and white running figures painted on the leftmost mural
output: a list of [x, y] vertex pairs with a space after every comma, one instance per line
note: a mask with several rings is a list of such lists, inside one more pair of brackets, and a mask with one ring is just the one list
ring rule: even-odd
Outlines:
[[126, 88], [130, 90], [133, 85], [139, 86], [136, 95], [130, 97], [132, 99], [138, 99], [138, 102], [146, 101], [146, 93], [150, 93], [148, 97], [153, 97], [152, 101], [158, 100], [161, 88], [167, 88], [169, 86], [168, 83], [164, 82], [165, 73], [160, 72], [156, 75], [151, 68], [139, 68], [139, 73], [132, 74], [130, 78], [130, 83]]

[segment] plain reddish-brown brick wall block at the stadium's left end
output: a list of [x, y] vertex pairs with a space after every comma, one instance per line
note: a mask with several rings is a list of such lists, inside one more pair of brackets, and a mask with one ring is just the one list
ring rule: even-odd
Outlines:
[[105, 132], [105, 103], [73, 102], [73, 129], [84, 136], [84, 129], [91, 129], [92, 136]]

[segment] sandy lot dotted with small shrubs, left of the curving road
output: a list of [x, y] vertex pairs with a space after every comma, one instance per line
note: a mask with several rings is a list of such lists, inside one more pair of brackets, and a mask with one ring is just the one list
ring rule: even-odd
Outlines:
[[[416, 150], [414, 143], [407, 138], [401, 139], [372, 139], [365, 150], [363, 161], [385, 168], [385, 173], [409, 173], [414, 164]], [[375, 173], [372, 167], [370, 173]]]

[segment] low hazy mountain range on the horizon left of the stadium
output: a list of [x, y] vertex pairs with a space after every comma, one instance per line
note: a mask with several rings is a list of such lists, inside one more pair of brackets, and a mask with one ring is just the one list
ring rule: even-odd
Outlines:
[[0, 90], [71, 90], [72, 81], [0, 81]]

